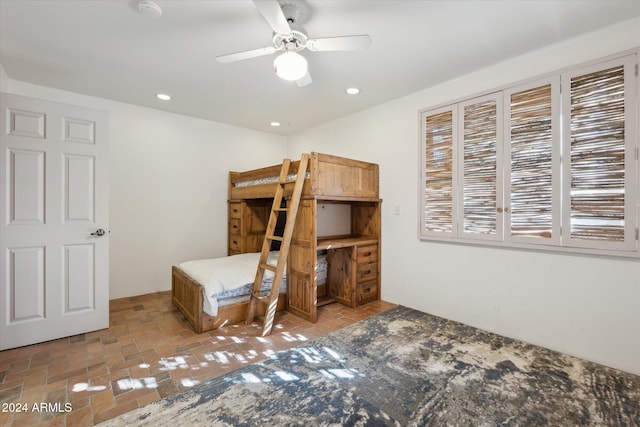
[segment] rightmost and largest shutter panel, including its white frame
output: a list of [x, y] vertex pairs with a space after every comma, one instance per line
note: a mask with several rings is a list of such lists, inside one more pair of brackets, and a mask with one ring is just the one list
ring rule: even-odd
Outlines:
[[635, 241], [635, 192], [628, 191], [634, 174], [633, 116], [628, 111], [633, 104], [627, 101], [634, 79], [628, 62], [591, 67], [563, 80], [569, 83], [564, 94], [565, 224], [572, 244], [625, 248]]

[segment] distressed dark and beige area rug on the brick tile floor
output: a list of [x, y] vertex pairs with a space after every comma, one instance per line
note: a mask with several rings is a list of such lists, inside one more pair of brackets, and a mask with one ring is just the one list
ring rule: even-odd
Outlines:
[[640, 376], [406, 307], [103, 426], [640, 426]]

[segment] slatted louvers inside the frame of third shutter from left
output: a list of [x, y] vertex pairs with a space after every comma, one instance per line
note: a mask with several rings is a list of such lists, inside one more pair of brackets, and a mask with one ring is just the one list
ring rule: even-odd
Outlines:
[[511, 236], [551, 238], [551, 85], [511, 95]]

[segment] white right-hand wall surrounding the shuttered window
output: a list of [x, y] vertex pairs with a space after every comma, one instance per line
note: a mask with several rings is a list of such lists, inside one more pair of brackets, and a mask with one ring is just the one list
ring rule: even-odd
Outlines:
[[634, 19], [300, 132], [288, 155], [380, 164], [383, 299], [640, 374], [640, 260], [417, 238], [418, 110], [637, 48], [638, 28]]

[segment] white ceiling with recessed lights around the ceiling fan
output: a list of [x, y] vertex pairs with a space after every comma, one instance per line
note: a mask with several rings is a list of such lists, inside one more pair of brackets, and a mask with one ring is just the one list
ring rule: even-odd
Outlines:
[[372, 45], [303, 51], [313, 83], [299, 88], [276, 77], [273, 56], [215, 60], [270, 46], [252, 1], [154, 1], [159, 18], [137, 0], [0, 0], [0, 63], [11, 79], [290, 134], [640, 16], [640, 0], [304, 0], [311, 38]]

